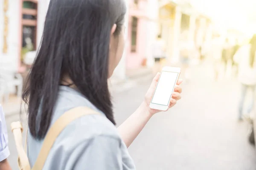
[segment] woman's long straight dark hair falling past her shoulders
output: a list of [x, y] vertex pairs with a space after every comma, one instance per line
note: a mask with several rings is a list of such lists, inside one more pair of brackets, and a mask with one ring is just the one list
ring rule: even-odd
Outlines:
[[22, 95], [33, 137], [45, 137], [65, 75], [115, 124], [107, 81], [109, 43], [114, 24], [114, 35], [121, 32], [125, 12], [124, 0], [50, 1], [40, 49]]

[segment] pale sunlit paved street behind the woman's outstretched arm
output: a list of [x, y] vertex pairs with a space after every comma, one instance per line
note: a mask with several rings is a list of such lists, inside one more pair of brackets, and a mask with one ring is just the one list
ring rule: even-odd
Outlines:
[[[210, 67], [195, 67], [175, 108], [155, 115], [129, 147], [138, 170], [255, 170], [254, 146], [246, 123], [237, 122], [239, 85], [212, 81]], [[151, 77], [131, 81], [113, 92], [115, 117], [123, 122], [143, 100]], [[19, 116], [9, 116], [10, 123]], [[9, 160], [16, 170], [11, 132]]]

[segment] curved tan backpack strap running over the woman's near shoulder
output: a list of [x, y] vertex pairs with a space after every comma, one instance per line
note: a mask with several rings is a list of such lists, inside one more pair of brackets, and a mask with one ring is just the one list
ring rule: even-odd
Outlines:
[[60, 118], [52, 125], [47, 135], [45, 136], [41, 151], [32, 169], [42, 170], [44, 167], [44, 163], [47, 159], [47, 156], [52, 148], [52, 145], [54, 144], [55, 139], [58, 137], [61, 131], [64, 130], [64, 128], [74, 120], [89, 114], [100, 113], [93, 111], [92, 109], [87, 107], [78, 107], [73, 108], [65, 112], [62, 116], [60, 116]]

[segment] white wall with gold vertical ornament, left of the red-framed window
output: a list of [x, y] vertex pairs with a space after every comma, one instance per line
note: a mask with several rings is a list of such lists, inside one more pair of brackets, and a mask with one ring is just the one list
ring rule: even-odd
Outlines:
[[0, 67], [17, 71], [21, 50], [21, 1], [3, 0], [0, 3]]

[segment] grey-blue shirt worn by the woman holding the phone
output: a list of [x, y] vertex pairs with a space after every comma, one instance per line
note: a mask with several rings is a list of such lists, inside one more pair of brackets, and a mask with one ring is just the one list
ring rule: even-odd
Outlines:
[[[78, 91], [60, 86], [50, 126], [64, 112], [79, 106], [100, 112]], [[38, 141], [28, 133], [31, 167], [42, 143], [43, 140]], [[70, 123], [53, 144], [44, 170], [135, 170], [135, 166], [116, 127], [102, 113], [83, 116]]]

